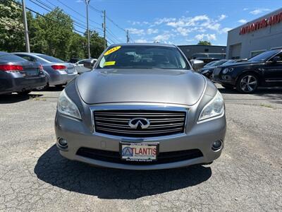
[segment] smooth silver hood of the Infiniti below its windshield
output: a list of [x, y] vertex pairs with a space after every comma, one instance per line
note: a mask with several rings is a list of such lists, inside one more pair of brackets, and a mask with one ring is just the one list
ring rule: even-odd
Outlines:
[[161, 102], [194, 105], [205, 83], [199, 73], [164, 69], [96, 69], [77, 78], [78, 92], [87, 104]]

